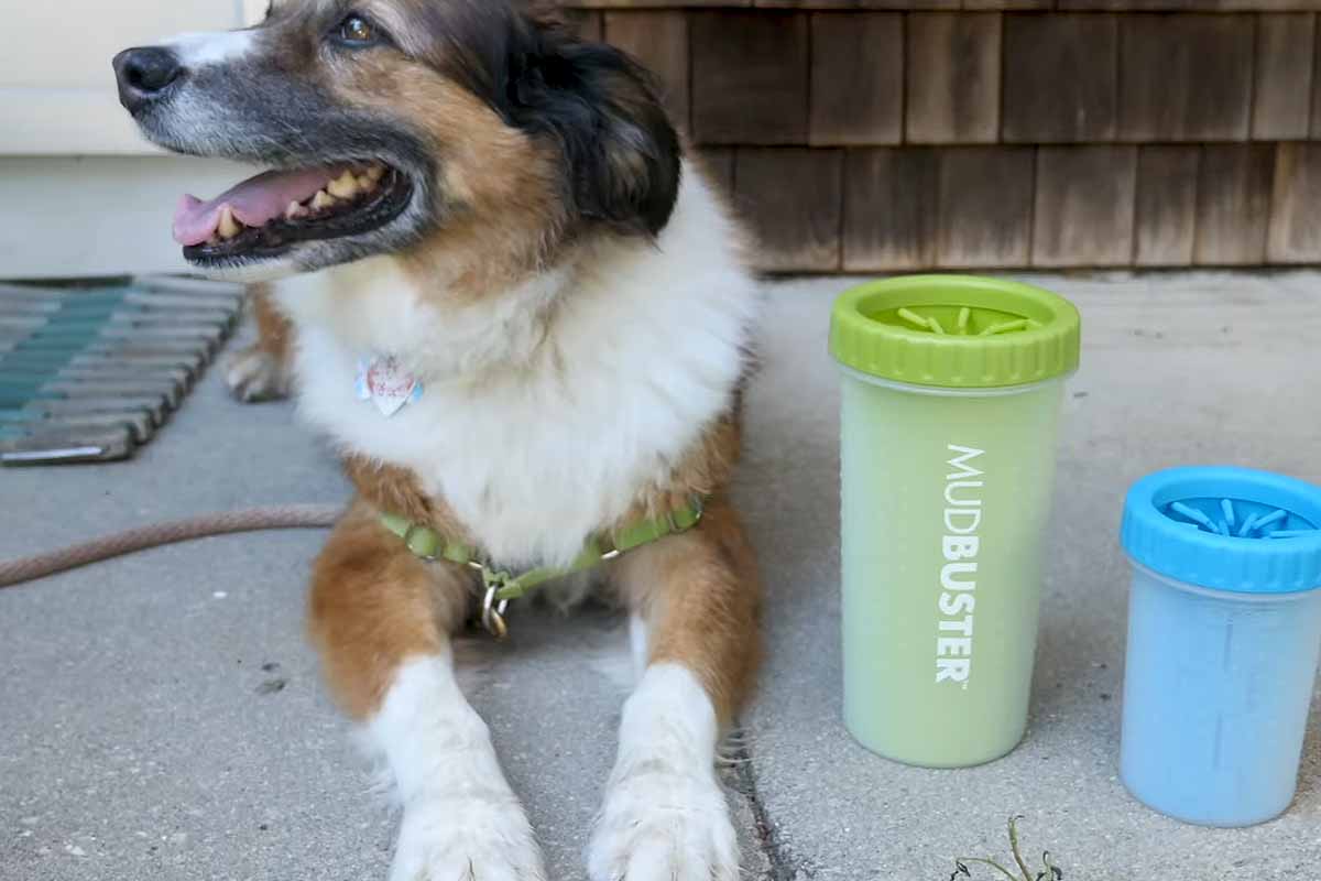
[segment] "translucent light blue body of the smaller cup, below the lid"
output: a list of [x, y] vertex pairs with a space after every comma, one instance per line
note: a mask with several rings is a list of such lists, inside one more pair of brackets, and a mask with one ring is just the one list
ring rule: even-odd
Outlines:
[[1188, 823], [1251, 826], [1297, 787], [1321, 590], [1209, 590], [1135, 565], [1120, 769]]

